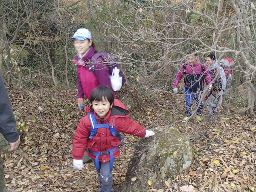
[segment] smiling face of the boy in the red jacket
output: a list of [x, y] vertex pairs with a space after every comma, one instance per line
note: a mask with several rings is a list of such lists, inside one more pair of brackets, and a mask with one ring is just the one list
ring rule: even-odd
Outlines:
[[102, 97], [102, 101], [94, 100], [93, 109], [95, 113], [99, 116], [99, 118], [104, 119], [109, 109], [112, 108], [113, 104], [110, 104], [107, 98]]

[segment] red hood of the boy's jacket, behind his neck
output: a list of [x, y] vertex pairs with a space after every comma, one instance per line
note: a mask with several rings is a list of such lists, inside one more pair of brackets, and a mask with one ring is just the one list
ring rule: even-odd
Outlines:
[[[94, 110], [93, 110], [93, 106], [90, 105], [89, 107], [86, 107], [85, 110], [84, 110], [85, 113], [94, 113]], [[131, 111], [128, 110], [128, 108], [125, 107], [125, 105], [119, 101], [118, 99], [114, 99], [114, 105], [113, 107], [109, 110], [110, 112], [110, 115], [109, 113], [107, 114], [107, 116], [105, 117], [105, 119], [107, 118], [114, 118], [116, 119], [117, 117], [127, 117], [131, 114]]]

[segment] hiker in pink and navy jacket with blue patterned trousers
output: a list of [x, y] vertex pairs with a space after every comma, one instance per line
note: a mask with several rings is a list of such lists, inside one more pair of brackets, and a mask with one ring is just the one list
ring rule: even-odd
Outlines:
[[[193, 55], [192, 55], [193, 54]], [[187, 53], [186, 62], [180, 67], [179, 73], [177, 74], [172, 87], [173, 92], [177, 93], [178, 85], [181, 79], [185, 75], [185, 95], [186, 95], [186, 116], [183, 118], [183, 122], [187, 122], [189, 117], [192, 115], [193, 99], [195, 99], [198, 109], [196, 111], [197, 120], [202, 120], [202, 109], [203, 103], [201, 101], [201, 91], [204, 89], [204, 81], [206, 84], [211, 83], [211, 76], [207, 70], [206, 64], [201, 63], [198, 59], [197, 53], [194, 50], [189, 50]]]

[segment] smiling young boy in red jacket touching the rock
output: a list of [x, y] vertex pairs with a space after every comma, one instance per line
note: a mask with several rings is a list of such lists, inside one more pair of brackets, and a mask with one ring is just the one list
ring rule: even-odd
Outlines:
[[[107, 86], [96, 87], [90, 94], [90, 107], [86, 108], [88, 113], [79, 123], [73, 139], [73, 166], [76, 169], [83, 168], [83, 154], [87, 147], [89, 156], [93, 159], [100, 182], [99, 192], [113, 192], [112, 166], [113, 160], [120, 154], [119, 145], [121, 141], [113, 136], [111, 128], [105, 125], [112, 125], [116, 128], [116, 135], [124, 132], [137, 137], [149, 137], [154, 131], [146, 130], [141, 125], [128, 118], [131, 113], [117, 99], [114, 99], [113, 91]], [[95, 116], [98, 128], [94, 136], [92, 130], [96, 128], [91, 125], [92, 116]], [[105, 128], [104, 128], [105, 127]]]

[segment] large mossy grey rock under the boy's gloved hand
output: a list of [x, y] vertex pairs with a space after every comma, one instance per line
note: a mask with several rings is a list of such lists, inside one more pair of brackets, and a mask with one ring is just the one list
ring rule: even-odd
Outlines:
[[[152, 181], [152, 188], [161, 189], [165, 180], [171, 183], [174, 177], [191, 166], [193, 147], [185, 134], [174, 127], [161, 126], [154, 131], [154, 137], [141, 138], [134, 146], [134, 157], [128, 165], [121, 191], [145, 192], [148, 180]], [[131, 181], [135, 177], [137, 179]]]

